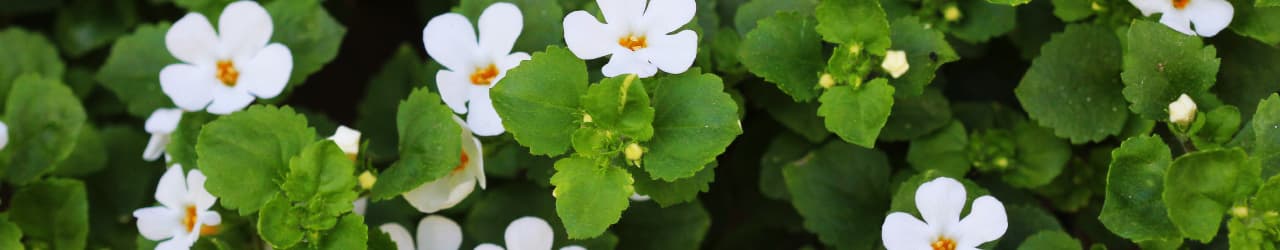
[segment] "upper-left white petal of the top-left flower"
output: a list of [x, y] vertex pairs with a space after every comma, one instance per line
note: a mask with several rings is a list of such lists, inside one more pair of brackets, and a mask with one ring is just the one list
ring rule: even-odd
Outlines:
[[164, 46], [184, 63], [214, 65], [218, 60], [218, 33], [200, 13], [187, 14], [173, 23], [164, 35]]

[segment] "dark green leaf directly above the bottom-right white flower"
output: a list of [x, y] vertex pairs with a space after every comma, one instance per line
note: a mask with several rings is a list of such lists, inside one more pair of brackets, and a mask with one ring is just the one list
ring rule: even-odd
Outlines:
[[945, 176], [964, 176], [969, 163], [969, 133], [964, 123], [951, 122], [932, 135], [911, 141], [906, 150], [906, 163], [919, 172], [937, 171]]

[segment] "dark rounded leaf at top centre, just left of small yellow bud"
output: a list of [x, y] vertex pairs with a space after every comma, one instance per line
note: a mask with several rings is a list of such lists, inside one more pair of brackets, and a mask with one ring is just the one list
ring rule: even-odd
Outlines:
[[762, 19], [739, 47], [742, 65], [796, 101], [813, 100], [818, 96], [818, 76], [826, 68], [815, 24], [812, 17], [792, 12]]

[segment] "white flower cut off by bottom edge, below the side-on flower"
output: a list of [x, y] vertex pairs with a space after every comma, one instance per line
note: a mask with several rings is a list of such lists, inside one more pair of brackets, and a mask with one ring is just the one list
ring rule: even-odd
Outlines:
[[[396, 249], [413, 250], [413, 237], [404, 227], [387, 223], [378, 226], [378, 229], [390, 235]], [[458, 247], [462, 247], [462, 227], [458, 227], [458, 223], [442, 215], [429, 215], [417, 222], [417, 250], [457, 250]]]

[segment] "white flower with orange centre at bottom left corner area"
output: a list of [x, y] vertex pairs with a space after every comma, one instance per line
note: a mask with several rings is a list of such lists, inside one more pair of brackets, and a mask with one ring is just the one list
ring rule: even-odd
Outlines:
[[192, 169], [184, 178], [182, 165], [169, 167], [156, 185], [156, 201], [160, 201], [159, 206], [133, 210], [142, 237], [152, 241], [169, 238], [156, 249], [189, 249], [201, 235], [216, 232], [214, 226], [223, 222], [218, 212], [209, 210], [218, 197], [205, 191], [205, 174], [198, 169]]

